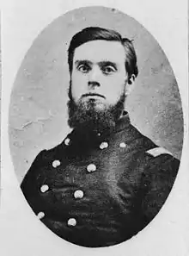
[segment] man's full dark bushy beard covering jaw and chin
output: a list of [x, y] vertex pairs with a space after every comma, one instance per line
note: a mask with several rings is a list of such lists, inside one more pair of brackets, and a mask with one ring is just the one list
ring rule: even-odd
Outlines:
[[121, 116], [125, 105], [125, 91], [119, 97], [119, 101], [114, 105], [99, 107], [97, 100], [90, 98], [88, 101], [75, 102], [71, 95], [71, 86], [69, 89], [68, 101], [68, 124], [70, 128], [77, 128], [86, 133], [87, 131], [104, 132], [112, 130]]

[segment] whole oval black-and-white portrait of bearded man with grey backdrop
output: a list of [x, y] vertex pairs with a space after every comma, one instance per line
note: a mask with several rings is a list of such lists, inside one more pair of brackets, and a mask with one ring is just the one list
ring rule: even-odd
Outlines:
[[9, 146], [27, 203], [58, 237], [110, 247], [143, 232], [174, 186], [182, 142], [172, 67], [130, 16], [75, 9], [28, 49]]

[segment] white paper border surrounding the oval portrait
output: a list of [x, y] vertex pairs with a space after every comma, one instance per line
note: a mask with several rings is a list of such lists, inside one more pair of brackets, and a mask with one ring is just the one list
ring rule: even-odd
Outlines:
[[[8, 118], [11, 87], [21, 61], [34, 39], [47, 24], [63, 13], [83, 6], [104, 5], [137, 19], [160, 43], [180, 87], [185, 143], [180, 172], [167, 207], [136, 238], [119, 246], [88, 249], [54, 236], [36, 221], [23, 199], [9, 154]], [[3, 94], [2, 94], [2, 198], [0, 215], [1, 255], [161, 255], [186, 256], [189, 240], [188, 102], [187, 102], [187, 2], [186, 0], [62, 1], [12, 0], [3, 4]], [[162, 218], [163, 216], [163, 218]]]

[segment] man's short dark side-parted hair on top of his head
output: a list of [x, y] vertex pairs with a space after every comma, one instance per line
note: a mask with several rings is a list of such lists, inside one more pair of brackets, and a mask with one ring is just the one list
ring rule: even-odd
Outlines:
[[122, 38], [121, 35], [113, 30], [99, 27], [84, 28], [82, 31], [76, 33], [71, 41], [68, 49], [68, 64], [70, 73], [73, 68], [73, 57], [76, 47], [80, 47], [82, 44], [88, 41], [105, 40], [105, 41], [119, 41], [125, 48], [125, 70], [128, 73], [129, 78], [132, 74], [137, 77], [137, 56], [133, 47], [132, 41], [128, 38]]

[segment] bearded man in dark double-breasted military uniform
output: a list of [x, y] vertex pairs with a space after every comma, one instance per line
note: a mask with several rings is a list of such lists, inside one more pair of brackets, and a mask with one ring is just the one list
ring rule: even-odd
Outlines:
[[112, 246], [155, 217], [180, 162], [140, 134], [125, 112], [138, 72], [130, 40], [85, 28], [70, 41], [68, 63], [73, 129], [39, 153], [21, 190], [41, 222], [64, 240]]

